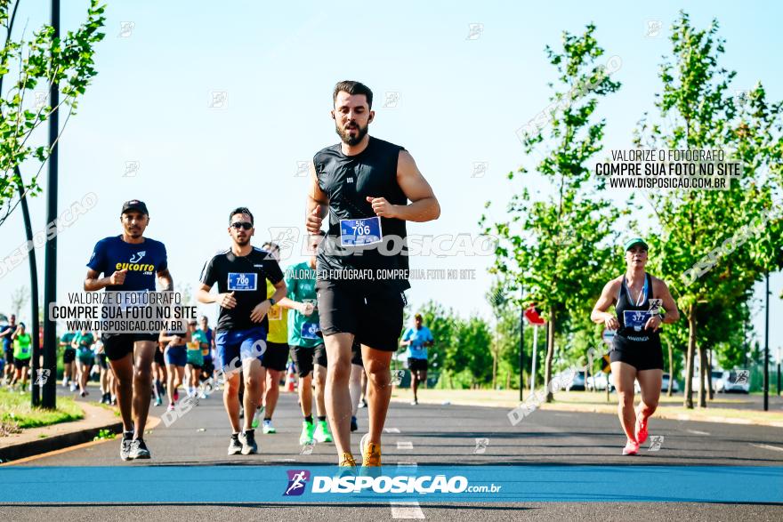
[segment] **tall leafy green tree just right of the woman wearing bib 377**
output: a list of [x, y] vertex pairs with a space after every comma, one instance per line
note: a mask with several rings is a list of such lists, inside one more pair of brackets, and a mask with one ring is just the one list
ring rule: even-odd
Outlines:
[[[649, 195], [661, 227], [653, 262], [661, 277], [673, 286], [689, 326], [684, 400], [689, 408], [693, 407], [691, 381], [698, 348], [699, 306], [715, 295], [731, 306], [744, 299], [747, 289], [760, 277], [761, 265], [771, 260], [774, 244], [770, 237], [767, 247], [751, 241], [737, 245], [737, 237], [745, 237], [743, 229], [727, 227], [732, 222], [749, 224], [770, 212], [775, 189], [760, 183], [760, 175], [776, 169], [771, 165], [775, 160], [772, 151], [779, 148], [779, 141], [771, 148], [755, 147], [752, 142], [762, 133], [747, 138], [755, 127], [744, 120], [748, 116], [757, 120], [758, 116], [739, 113], [735, 106], [730, 85], [736, 73], [718, 65], [725, 42], [717, 31], [717, 20], [710, 28], [698, 30], [690, 25], [687, 13], [680, 13], [670, 36], [674, 59], [666, 59], [659, 73], [663, 86], [656, 95], [656, 107], [661, 123], [650, 124], [645, 114], [635, 139], [637, 145], [646, 138], [647, 145], [661, 149], [737, 149], [736, 158], [744, 166], [742, 177], [732, 180], [728, 190], [672, 190]], [[758, 95], [755, 98], [758, 101]], [[766, 116], [771, 119], [770, 128], [776, 127], [776, 120], [779, 123], [779, 105], [774, 108], [778, 112]], [[731, 262], [716, 261], [715, 256], [722, 253], [731, 254]], [[704, 267], [706, 270], [701, 269]], [[694, 277], [697, 273], [700, 277]], [[702, 349], [699, 360], [700, 366], [706, 367]], [[703, 386], [699, 405], [706, 406]]]

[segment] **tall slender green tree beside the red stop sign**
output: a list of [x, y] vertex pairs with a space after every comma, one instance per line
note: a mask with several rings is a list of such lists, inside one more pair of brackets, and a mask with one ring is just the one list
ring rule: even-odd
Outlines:
[[518, 172], [527, 183], [508, 205], [511, 221], [487, 225], [486, 216], [480, 219], [485, 233], [501, 239], [491, 271], [513, 277], [529, 292], [529, 301], [536, 301], [544, 312], [549, 327], [545, 381], [552, 376], [555, 334], [561, 332], [563, 319], [569, 314], [588, 316], [601, 293], [612, 262], [606, 244], [615, 242], [613, 223], [627, 213], [597, 197], [595, 189], [601, 189], [601, 181], [591, 187], [585, 166], [601, 150], [606, 122], [593, 122], [598, 100], [620, 86], [596, 63], [604, 51], [594, 31], [591, 24], [582, 35], [564, 32], [562, 52], [546, 46], [559, 75], [557, 87], [552, 85], [552, 104], [542, 112], [551, 125], [529, 126], [521, 137], [528, 155], [540, 145], [549, 146], [535, 171], [549, 182], [553, 196], [534, 199], [528, 187], [537, 181], [522, 166]]

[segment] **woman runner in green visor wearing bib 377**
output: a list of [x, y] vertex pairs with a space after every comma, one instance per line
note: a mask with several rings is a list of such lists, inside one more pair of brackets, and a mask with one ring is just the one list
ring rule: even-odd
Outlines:
[[[658, 329], [680, 317], [666, 283], [644, 271], [647, 251], [641, 238], [626, 243], [626, 274], [603, 287], [590, 317], [594, 323], [615, 330], [609, 359], [618, 389], [618, 416], [627, 438], [624, 455], [639, 452], [647, 439], [648, 419], [658, 407], [663, 377]], [[615, 313], [607, 311], [612, 304]], [[634, 381], [639, 381], [642, 389], [638, 410], [634, 410]]]

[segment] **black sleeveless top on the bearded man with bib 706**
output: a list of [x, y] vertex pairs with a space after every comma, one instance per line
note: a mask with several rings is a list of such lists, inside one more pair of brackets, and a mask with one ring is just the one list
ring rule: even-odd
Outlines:
[[313, 157], [319, 189], [329, 198], [329, 229], [317, 255], [319, 278], [333, 270], [369, 269], [385, 274], [397, 270], [395, 277], [375, 279], [375, 283], [410, 288], [405, 221], [382, 217], [381, 243], [343, 246], [340, 242], [340, 220], [375, 217], [368, 196], [385, 197], [392, 205], [408, 204], [397, 183], [397, 160], [404, 149], [370, 136], [367, 148], [355, 156], [345, 156], [337, 143]]

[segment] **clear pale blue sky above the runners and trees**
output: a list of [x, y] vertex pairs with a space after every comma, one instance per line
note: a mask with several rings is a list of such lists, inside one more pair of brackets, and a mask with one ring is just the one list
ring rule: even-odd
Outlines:
[[[64, 28], [84, 18], [86, 4], [63, 2]], [[46, 19], [48, 5], [23, 4], [28, 33]], [[109, 1], [100, 74], [61, 141], [61, 208], [89, 191], [99, 196], [58, 240], [63, 297], [81, 288], [95, 241], [119, 233], [120, 205], [132, 197], [149, 205], [148, 235], [167, 245], [177, 283], [196, 285], [206, 258], [228, 244], [226, 213], [234, 206], [256, 214], [259, 245], [268, 227], [301, 227], [306, 178], [295, 176], [297, 162], [336, 142], [328, 111], [332, 87], [343, 79], [374, 90], [370, 133], [405, 146], [440, 198], [440, 220], [412, 224], [409, 232], [477, 234], [485, 201], [501, 212], [513, 189], [505, 174], [526, 159], [514, 131], [547, 104], [553, 71], [545, 44], [557, 46], [563, 29], [597, 25], [606, 56], [622, 59], [616, 76], [623, 87], [601, 106], [609, 121], [605, 148], [626, 148], [659, 89], [666, 34], [683, 3], [194, 5]], [[687, 10], [698, 27], [720, 20], [722, 63], [738, 71], [737, 89], [762, 80], [771, 99], [783, 99], [774, 51], [783, 48], [779, 4], [689, 2]], [[660, 36], [647, 36], [650, 20], [663, 22]], [[130, 34], [121, 36], [122, 22], [133, 24]], [[468, 37], [470, 24], [483, 24], [478, 37]], [[227, 93], [226, 108], [208, 107], [214, 91]], [[386, 92], [399, 93], [397, 107], [383, 108]], [[136, 176], [124, 175], [126, 162], [138, 162]], [[474, 162], [488, 163], [483, 177], [472, 177]], [[618, 204], [625, 196], [618, 194]], [[31, 209], [34, 228], [43, 228], [44, 198]], [[642, 218], [649, 209], [636, 212]], [[17, 212], [0, 228], [0, 244], [10, 253], [23, 240]], [[297, 252], [283, 264], [298, 261]], [[416, 307], [434, 299], [464, 316], [489, 317], [490, 261], [416, 258], [412, 268], [475, 269], [477, 277], [458, 285], [414, 281], [409, 301]], [[43, 270], [42, 251], [39, 262]], [[0, 310], [7, 312], [12, 290], [27, 277], [23, 264], [0, 279]], [[773, 317], [783, 315], [781, 287], [776, 274]], [[777, 323], [773, 347], [783, 342]]]

